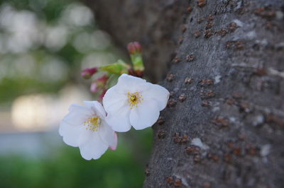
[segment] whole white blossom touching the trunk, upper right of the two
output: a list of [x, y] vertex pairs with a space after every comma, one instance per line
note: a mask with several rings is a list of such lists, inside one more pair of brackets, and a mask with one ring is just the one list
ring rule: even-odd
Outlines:
[[118, 132], [129, 131], [131, 125], [136, 130], [151, 127], [166, 107], [169, 96], [162, 86], [122, 74], [102, 100], [107, 122]]

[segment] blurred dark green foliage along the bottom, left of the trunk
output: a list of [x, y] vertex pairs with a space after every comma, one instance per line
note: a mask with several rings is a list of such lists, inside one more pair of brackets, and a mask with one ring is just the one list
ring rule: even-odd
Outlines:
[[[139, 148], [142, 155], [148, 155], [150, 145], [143, 141], [151, 136], [151, 130], [142, 132], [134, 142], [143, 145]], [[79, 149], [70, 146], [48, 151], [53, 154], [46, 158], [1, 157], [0, 187], [142, 187], [144, 167], [129, 144], [120, 139], [117, 150], [107, 151], [99, 160], [84, 160]]]

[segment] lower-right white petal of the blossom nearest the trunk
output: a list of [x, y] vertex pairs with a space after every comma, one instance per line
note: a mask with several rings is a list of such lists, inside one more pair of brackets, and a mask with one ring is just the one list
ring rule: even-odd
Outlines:
[[151, 127], [160, 114], [158, 102], [155, 100], [144, 100], [138, 107], [133, 107], [130, 112], [131, 125], [136, 130]]

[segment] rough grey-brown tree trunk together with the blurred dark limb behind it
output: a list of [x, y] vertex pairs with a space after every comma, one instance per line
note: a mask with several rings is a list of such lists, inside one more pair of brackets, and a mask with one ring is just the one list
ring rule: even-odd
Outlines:
[[144, 187], [284, 187], [284, 1], [87, 4], [151, 78], [170, 65]]

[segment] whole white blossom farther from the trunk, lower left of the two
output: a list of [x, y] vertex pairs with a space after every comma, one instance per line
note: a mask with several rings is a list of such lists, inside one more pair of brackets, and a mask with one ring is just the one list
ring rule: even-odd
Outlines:
[[59, 134], [67, 145], [80, 148], [82, 158], [98, 159], [108, 148], [116, 148], [117, 136], [107, 124], [106, 112], [99, 102], [84, 101], [84, 105], [70, 106]]

